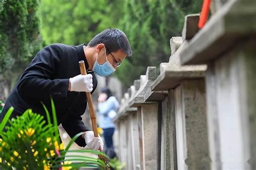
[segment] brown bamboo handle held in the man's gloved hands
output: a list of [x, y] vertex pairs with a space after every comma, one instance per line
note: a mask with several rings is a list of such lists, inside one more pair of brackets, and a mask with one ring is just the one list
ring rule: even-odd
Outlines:
[[[86, 75], [87, 72], [86, 72], [83, 60], [79, 61], [79, 66], [80, 66], [80, 73], [82, 75]], [[97, 124], [96, 124], [96, 116], [95, 116], [95, 112], [94, 112], [94, 108], [93, 108], [93, 99], [91, 98], [91, 93], [90, 92], [86, 92], [86, 97], [87, 97], [87, 101], [88, 101], [88, 105], [89, 105], [91, 124], [93, 126], [94, 136], [98, 137], [98, 130], [97, 130]]]

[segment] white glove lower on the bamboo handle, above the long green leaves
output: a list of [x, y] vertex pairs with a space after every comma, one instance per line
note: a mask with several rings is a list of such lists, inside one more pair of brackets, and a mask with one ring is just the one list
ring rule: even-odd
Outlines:
[[86, 131], [84, 135], [85, 139], [85, 149], [93, 149], [98, 151], [99, 149], [102, 151], [103, 150], [103, 140], [101, 137], [98, 135], [98, 137], [94, 137], [94, 132], [93, 131]]

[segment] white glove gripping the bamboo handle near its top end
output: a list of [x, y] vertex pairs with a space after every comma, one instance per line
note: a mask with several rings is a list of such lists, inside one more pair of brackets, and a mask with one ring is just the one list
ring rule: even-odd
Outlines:
[[93, 76], [91, 74], [82, 75], [79, 74], [70, 81], [70, 91], [77, 92], [91, 92], [93, 91]]

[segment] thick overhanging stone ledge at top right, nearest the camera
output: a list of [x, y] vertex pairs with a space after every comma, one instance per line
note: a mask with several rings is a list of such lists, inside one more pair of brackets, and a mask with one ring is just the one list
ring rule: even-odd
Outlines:
[[229, 1], [181, 51], [181, 64], [205, 64], [245, 36], [256, 35], [256, 1]]

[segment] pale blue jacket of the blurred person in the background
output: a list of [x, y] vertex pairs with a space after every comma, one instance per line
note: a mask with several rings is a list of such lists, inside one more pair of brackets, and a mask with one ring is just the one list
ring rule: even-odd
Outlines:
[[111, 96], [108, 100], [98, 104], [97, 114], [100, 128], [115, 128], [113, 117], [116, 115], [118, 107], [119, 103], [114, 96]]

